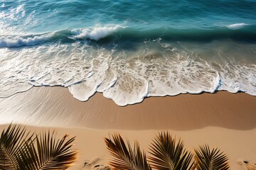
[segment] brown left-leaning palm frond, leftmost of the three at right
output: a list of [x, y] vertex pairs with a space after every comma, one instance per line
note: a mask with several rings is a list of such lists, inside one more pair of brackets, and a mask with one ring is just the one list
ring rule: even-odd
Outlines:
[[139, 148], [139, 143], [134, 143], [132, 149], [129, 141], [125, 145], [119, 134], [112, 135], [112, 139], [105, 138], [107, 149], [114, 159], [110, 162], [113, 169], [118, 170], [151, 170], [146, 161], [146, 154]]

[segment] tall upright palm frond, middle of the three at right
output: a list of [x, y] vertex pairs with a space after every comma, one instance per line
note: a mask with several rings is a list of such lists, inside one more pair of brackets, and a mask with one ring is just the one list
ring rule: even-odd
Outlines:
[[171, 137], [169, 132], [161, 132], [151, 142], [149, 157], [155, 169], [183, 170], [191, 169], [192, 154], [183, 149], [183, 142]]

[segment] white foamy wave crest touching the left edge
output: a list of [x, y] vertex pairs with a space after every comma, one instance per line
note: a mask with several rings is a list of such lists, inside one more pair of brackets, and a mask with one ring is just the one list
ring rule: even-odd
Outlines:
[[0, 37], [0, 47], [21, 47], [38, 45], [53, 37], [54, 33], [46, 35], [2, 35]]

